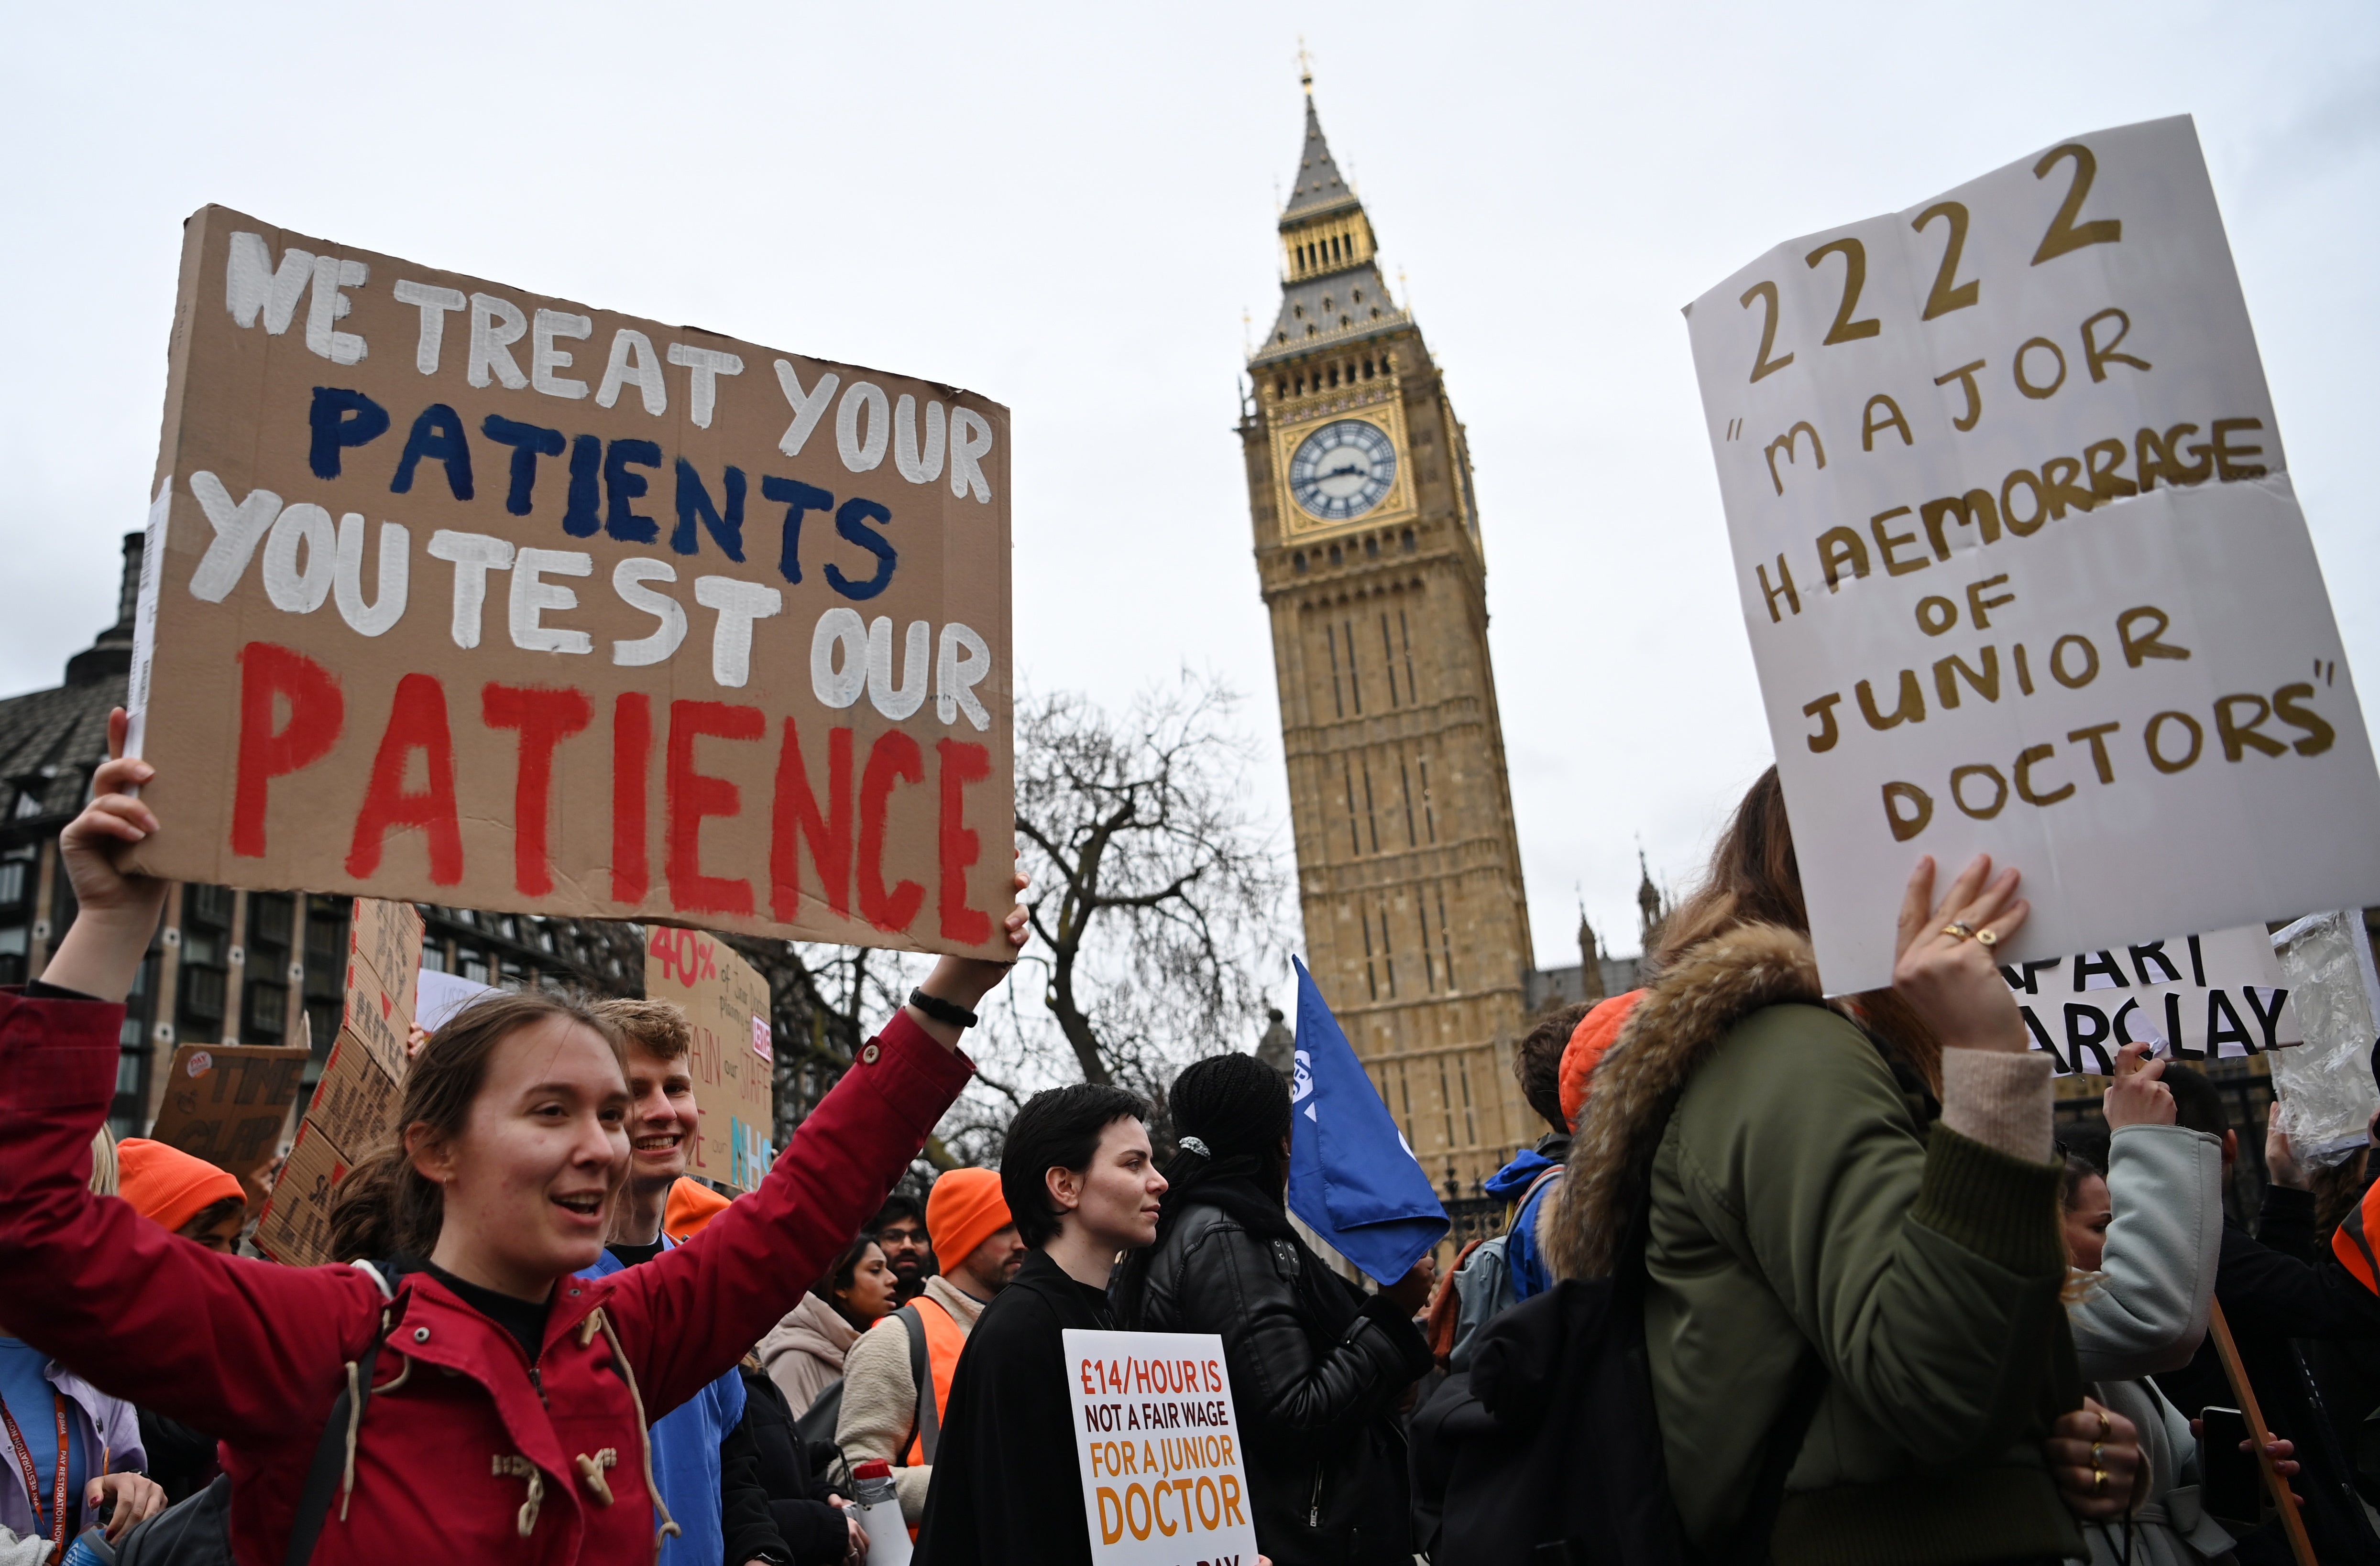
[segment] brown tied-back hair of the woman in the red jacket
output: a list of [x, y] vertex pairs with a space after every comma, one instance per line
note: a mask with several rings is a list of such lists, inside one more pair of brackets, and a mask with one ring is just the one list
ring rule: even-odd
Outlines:
[[[340, 1261], [428, 1257], [438, 1245], [445, 1202], [405, 1152], [405, 1133], [428, 1126], [431, 1135], [462, 1135], [471, 1102], [488, 1080], [495, 1047], [521, 1028], [569, 1019], [619, 1052], [619, 1031], [597, 1009], [543, 990], [483, 995], [431, 1033], [405, 1073], [405, 1102], [395, 1128], [331, 1192], [331, 1254]], [[621, 1066], [626, 1071], [626, 1066]]]

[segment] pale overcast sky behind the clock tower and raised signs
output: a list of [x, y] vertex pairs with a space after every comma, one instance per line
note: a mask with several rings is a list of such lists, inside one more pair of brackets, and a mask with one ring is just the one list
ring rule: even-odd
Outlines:
[[[1297, 38], [1468, 424], [1537, 961], [1635, 947], [1768, 733], [1678, 307], [1778, 240], [2194, 114], [2349, 654], [2380, 678], [2380, 7], [26, 10], [0, 693], [112, 619], [181, 219], [267, 221], [1014, 407], [1026, 685], [1247, 697], [1285, 816], [1240, 469]], [[2366, 433], [2356, 433], [2363, 428]], [[1288, 833], [1280, 833], [1283, 852]]]

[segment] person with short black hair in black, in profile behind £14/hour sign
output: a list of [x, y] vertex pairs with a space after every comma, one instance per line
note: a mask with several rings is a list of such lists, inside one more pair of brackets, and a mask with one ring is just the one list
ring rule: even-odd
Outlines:
[[1000, 1192], [1031, 1247], [983, 1307], [950, 1385], [921, 1566], [1088, 1566], [1066, 1328], [1114, 1330], [1119, 1252], [1157, 1240], [1166, 1178], [1123, 1088], [1035, 1092], [1009, 1123]]

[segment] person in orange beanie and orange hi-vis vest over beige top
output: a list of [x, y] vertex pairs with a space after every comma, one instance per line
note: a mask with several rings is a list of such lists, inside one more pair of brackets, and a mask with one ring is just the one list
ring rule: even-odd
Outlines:
[[[942, 1273], [926, 1292], [878, 1321], [843, 1359], [843, 1416], [835, 1445], [850, 1461], [871, 1457], [892, 1464], [902, 1518], [914, 1528], [933, 1483], [933, 1452], [950, 1378], [959, 1349], [992, 1295], [1023, 1266], [1026, 1242], [1016, 1238], [1000, 1176], [990, 1169], [952, 1169], [926, 1197], [926, 1233]], [[916, 1380], [909, 1373], [909, 1338], [923, 1333], [933, 1376], [933, 1428], [919, 1428]]]

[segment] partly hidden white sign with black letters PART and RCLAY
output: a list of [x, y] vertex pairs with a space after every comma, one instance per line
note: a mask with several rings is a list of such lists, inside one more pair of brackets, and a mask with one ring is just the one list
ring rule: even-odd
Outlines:
[[2056, 1073], [2109, 1076], [2130, 1042], [2171, 1059], [2237, 1059], [2304, 1042], [2263, 926], [2006, 964], [2033, 1047]]

